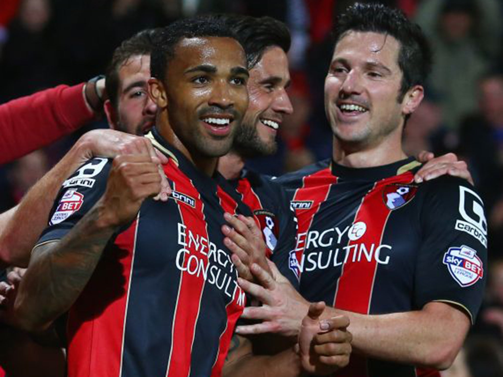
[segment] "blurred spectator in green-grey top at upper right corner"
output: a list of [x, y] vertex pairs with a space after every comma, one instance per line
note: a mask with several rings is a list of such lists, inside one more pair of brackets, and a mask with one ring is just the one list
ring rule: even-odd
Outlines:
[[435, 65], [430, 86], [452, 129], [476, 110], [476, 84], [501, 49], [501, 4], [497, 0], [424, 0], [415, 21], [430, 39]]

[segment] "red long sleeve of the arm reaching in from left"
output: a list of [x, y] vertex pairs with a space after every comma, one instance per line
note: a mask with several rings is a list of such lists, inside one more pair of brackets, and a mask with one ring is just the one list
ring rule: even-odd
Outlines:
[[44, 147], [94, 117], [84, 84], [59, 85], [0, 105], [0, 164]]

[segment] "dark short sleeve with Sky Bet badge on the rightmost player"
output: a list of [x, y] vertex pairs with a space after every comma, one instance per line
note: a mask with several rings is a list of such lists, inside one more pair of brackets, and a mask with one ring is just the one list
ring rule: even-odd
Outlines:
[[441, 177], [424, 184], [414, 304], [464, 309], [472, 323], [487, 274], [487, 222], [482, 199], [466, 181]]

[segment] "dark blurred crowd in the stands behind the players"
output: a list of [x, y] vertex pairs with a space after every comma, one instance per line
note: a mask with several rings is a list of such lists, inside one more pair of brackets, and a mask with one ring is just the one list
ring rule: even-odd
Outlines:
[[[361, 1], [365, 2], [365, 1]], [[408, 121], [408, 154], [455, 152], [482, 194], [489, 232], [487, 298], [449, 376], [503, 375], [503, 0], [387, 0], [429, 36], [434, 68], [426, 100]], [[272, 16], [292, 33], [295, 109], [278, 154], [250, 161], [279, 175], [330, 156], [323, 80], [334, 17], [351, 0], [0, 0], [0, 103], [104, 73], [112, 52], [137, 31], [194, 14]], [[35, 125], [36, 127], [36, 125]], [[82, 129], [107, 128], [104, 121]], [[0, 167], [0, 210], [19, 202], [79, 135]]]

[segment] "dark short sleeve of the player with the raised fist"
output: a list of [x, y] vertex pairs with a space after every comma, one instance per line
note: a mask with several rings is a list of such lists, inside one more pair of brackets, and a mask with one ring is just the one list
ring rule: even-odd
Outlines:
[[63, 182], [37, 246], [64, 237], [105, 192], [111, 160], [93, 158]]

